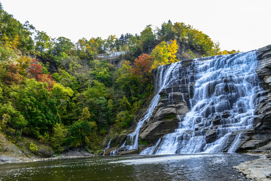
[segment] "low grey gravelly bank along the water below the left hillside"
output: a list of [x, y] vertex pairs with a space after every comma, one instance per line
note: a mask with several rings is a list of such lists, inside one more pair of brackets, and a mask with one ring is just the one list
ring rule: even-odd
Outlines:
[[91, 154], [85, 151], [68, 151], [60, 154], [59, 156], [55, 155], [55, 157], [50, 158], [41, 158], [41, 157], [14, 157], [10, 155], [0, 155], [0, 164], [10, 164], [10, 163], [23, 163], [23, 162], [31, 162], [31, 161], [44, 161], [44, 160], [55, 160], [61, 158], [82, 158], [82, 157], [94, 157], [98, 156], [95, 154]]

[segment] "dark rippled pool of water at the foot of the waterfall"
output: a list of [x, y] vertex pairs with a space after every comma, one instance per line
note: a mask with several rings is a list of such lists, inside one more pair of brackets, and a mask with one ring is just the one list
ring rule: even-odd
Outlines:
[[232, 166], [257, 158], [217, 153], [57, 159], [0, 165], [0, 180], [247, 180]]

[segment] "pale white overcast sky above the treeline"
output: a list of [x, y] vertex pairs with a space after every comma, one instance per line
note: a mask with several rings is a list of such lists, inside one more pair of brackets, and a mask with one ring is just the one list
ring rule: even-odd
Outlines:
[[271, 44], [271, 0], [58, 1], [0, 0], [22, 24], [73, 42], [85, 37], [140, 34], [165, 21], [183, 22], [220, 42], [221, 50], [243, 52]]

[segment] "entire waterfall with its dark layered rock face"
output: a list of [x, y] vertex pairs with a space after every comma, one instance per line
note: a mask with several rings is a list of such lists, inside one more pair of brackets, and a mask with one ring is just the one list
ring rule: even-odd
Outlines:
[[160, 66], [152, 72], [157, 95], [115, 154], [270, 150], [270, 52], [269, 45]]

